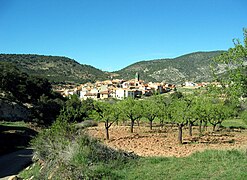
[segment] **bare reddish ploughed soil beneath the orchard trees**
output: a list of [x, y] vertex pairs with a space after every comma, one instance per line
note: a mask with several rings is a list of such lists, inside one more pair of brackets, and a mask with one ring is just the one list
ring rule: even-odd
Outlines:
[[188, 156], [196, 151], [206, 149], [245, 149], [247, 150], [247, 130], [222, 130], [211, 133], [211, 129], [202, 137], [198, 135], [198, 128], [193, 129], [193, 137], [189, 137], [188, 130], [183, 131], [183, 144], [178, 144], [176, 127], [135, 126], [134, 133], [130, 133], [129, 126], [112, 126], [109, 129], [110, 140], [105, 139], [104, 124], [88, 128], [93, 137], [101, 139], [106, 145], [140, 156]]

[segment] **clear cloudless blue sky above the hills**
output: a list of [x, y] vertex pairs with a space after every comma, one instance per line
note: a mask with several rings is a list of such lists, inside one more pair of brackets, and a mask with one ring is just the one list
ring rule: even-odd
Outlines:
[[227, 50], [246, 0], [0, 0], [0, 53], [66, 56], [114, 71], [141, 60]]

